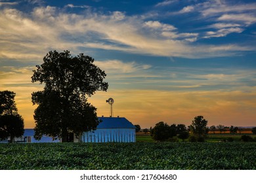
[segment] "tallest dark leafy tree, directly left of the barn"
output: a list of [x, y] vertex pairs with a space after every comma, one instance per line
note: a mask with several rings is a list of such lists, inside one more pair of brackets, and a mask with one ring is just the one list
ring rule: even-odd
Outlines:
[[44, 84], [44, 90], [32, 93], [35, 109], [35, 139], [42, 135], [68, 141], [68, 133], [76, 135], [96, 129], [96, 108], [87, 102], [96, 91], [106, 91], [106, 74], [93, 64], [94, 59], [69, 51], [51, 51], [43, 64], [33, 71], [32, 82]]

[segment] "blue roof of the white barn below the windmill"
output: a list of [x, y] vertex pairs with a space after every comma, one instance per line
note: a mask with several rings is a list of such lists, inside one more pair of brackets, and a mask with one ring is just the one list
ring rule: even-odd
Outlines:
[[110, 128], [130, 128], [135, 129], [135, 126], [129, 122], [126, 118], [119, 117], [99, 117], [99, 120], [102, 120], [98, 124], [97, 129], [110, 129]]

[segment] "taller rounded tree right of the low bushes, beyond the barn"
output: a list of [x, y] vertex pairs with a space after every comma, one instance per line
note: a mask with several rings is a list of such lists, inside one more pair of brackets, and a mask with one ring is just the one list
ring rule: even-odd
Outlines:
[[207, 120], [205, 120], [203, 116], [196, 116], [190, 125], [190, 130], [192, 134], [197, 137], [206, 135], [209, 131], [209, 129], [207, 129]]

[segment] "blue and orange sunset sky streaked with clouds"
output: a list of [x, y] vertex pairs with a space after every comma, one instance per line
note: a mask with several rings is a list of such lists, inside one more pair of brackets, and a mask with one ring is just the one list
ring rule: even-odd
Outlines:
[[0, 90], [16, 93], [35, 127], [35, 65], [47, 52], [95, 59], [107, 92], [89, 102], [98, 116], [142, 128], [158, 122], [256, 125], [256, 3], [238, 0], [0, 0]]

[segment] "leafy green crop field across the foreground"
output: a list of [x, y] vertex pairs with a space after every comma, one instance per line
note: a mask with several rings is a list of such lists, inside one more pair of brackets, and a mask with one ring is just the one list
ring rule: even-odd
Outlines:
[[256, 169], [256, 142], [0, 144], [0, 169]]

